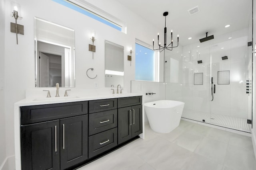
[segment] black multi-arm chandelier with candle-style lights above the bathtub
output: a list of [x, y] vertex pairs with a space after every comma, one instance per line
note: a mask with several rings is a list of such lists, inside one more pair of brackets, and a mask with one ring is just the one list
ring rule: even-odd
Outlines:
[[164, 12], [163, 14], [165, 16], [165, 25], [164, 25], [164, 46], [162, 46], [159, 42], [159, 33], [157, 35], [157, 39], [158, 39], [158, 47], [157, 49], [154, 49], [154, 39], [153, 39], [153, 50], [159, 50], [160, 52], [162, 52], [164, 49], [170, 50], [172, 51], [172, 48], [178, 47], [179, 45], [179, 35], [177, 36], [178, 39], [178, 43], [177, 46], [173, 46], [173, 40], [172, 40], [172, 31], [171, 31], [171, 43], [169, 45], [166, 44], [166, 32], [167, 32], [167, 28], [166, 28], [166, 16], [168, 16], [168, 12]]

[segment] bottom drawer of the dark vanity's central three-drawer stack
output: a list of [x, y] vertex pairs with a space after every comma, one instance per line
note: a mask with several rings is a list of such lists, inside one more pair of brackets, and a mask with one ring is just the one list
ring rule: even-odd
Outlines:
[[88, 138], [89, 158], [117, 146], [117, 127]]

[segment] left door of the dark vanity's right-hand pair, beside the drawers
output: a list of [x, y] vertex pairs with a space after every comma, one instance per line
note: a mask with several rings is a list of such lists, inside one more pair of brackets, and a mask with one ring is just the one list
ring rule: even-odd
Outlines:
[[118, 145], [132, 138], [132, 107], [118, 109]]

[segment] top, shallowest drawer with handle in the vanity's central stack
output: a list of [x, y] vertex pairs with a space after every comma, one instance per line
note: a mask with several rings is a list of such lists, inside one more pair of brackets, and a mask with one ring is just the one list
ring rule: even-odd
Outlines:
[[103, 99], [89, 101], [89, 113], [106, 111], [117, 108], [117, 99]]

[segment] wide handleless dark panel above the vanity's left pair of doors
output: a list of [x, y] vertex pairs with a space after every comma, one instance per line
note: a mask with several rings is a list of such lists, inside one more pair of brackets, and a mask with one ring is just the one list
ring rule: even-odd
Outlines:
[[88, 101], [20, 107], [21, 125], [88, 113]]

